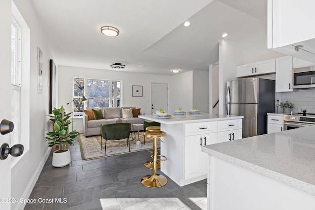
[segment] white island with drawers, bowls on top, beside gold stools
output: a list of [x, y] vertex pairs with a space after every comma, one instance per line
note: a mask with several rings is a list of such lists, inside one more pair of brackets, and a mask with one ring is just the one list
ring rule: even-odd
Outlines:
[[140, 115], [144, 120], [161, 123], [166, 132], [160, 143], [161, 172], [184, 186], [207, 178], [207, 154], [202, 146], [242, 138], [242, 116], [209, 113], [175, 115], [169, 119]]

